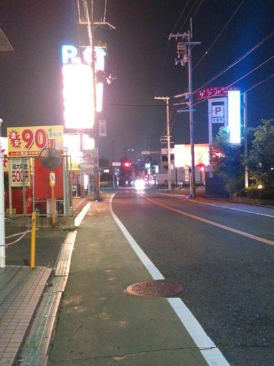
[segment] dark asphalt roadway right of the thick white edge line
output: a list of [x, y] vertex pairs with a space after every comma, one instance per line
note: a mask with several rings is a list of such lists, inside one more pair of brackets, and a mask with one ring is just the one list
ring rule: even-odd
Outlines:
[[274, 218], [143, 196], [119, 191], [115, 214], [164, 278], [184, 286], [182, 300], [227, 361], [273, 365]]

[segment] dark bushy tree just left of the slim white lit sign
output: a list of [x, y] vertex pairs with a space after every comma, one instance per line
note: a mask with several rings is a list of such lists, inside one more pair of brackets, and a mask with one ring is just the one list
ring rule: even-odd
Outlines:
[[213, 142], [212, 166], [214, 173], [223, 178], [225, 188], [231, 194], [244, 187], [242, 154], [243, 145], [230, 143], [227, 128], [221, 127]]

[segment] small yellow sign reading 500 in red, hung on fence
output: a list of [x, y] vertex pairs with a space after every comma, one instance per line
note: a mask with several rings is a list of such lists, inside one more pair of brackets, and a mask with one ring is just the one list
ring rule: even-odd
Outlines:
[[25, 176], [25, 186], [30, 186], [29, 159], [14, 158], [10, 160], [10, 186], [21, 187]]

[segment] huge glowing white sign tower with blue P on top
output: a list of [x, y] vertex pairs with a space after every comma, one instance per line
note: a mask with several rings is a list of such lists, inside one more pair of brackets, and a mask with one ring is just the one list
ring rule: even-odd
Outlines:
[[[84, 47], [82, 59], [77, 48], [71, 45], [62, 47], [63, 84], [64, 84], [64, 121], [67, 128], [92, 128], [96, 112], [103, 109], [103, 75], [105, 51], [95, 47], [96, 107], [94, 108], [92, 52]], [[101, 74], [100, 74], [101, 73]]]

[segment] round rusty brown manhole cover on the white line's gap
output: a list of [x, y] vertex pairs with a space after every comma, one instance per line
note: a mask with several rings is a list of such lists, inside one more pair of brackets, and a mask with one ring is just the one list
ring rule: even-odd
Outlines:
[[169, 282], [138, 282], [127, 286], [127, 292], [136, 296], [168, 297], [183, 291], [180, 284]]

